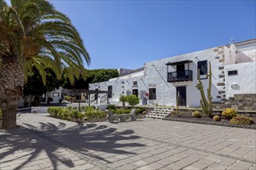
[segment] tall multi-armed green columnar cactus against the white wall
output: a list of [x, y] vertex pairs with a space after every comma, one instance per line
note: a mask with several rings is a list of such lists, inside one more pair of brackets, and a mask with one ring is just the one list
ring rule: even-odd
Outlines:
[[211, 63], [209, 62], [209, 74], [207, 74], [207, 77], [209, 77], [209, 87], [207, 89], [207, 100], [206, 95], [203, 90], [202, 81], [200, 79], [200, 70], [198, 71], [198, 77], [199, 77], [199, 83], [196, 84], [197, 90], [200, 91], [202, 99], [200, 100], [201, 108], [202, 108], [202, 114], [204, 116], [211, 116], [213, 114], [213, 108], [212, 108], [212, 67]]

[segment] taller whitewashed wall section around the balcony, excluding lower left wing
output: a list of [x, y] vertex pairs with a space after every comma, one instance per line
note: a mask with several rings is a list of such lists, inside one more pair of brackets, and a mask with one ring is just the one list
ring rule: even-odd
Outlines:
[[[199, 106], [200, 102], [200, 93], [199, 90], [195, 88], [196, 83], [198, 83], [197, 79], [197, 62], [206, 60], [211, 62], [212, 71], [213, 71], [213, 81], [212, 81], [212, 94], [213, 101], [220, 101], [220, 99], [216, 98], [220, 87], [216, 87], [216, 84], [219, 83], [218, 74], [220, 70], [218, 70], [219, 66], [223, 66], [223, 63], [216, 62], [215, 53], [213, 49], [206, 49], [195, 53], [188, 53], [180, 56], [174, 56], [166, 59], [160, 59], [153, 62], [146, 63], [146, 74], [145, 81], [147, 85], [154, 84], [156, 86], [157, 91], [157, 100], [150, 100], [150, 104], [160, 104], [160, 105], [168, 105], [175, 106], [176, 105], [176, 87], [186, 87], [186, 97], [187, 97], [187, 106], [195, 107]], [[195, 58], [196, 57], [196, 58]], [[189, 70], [192, 70], [193, 81], [184, 81], [184, 82], [167, 82], [167, 66], [165, 66], [168, 62], [177, 62], [182, 60], [192, 60], [192, 63], [189, 63]], [[185, 69], [187, 67], [187, 63], [185, 64]], [[175, 71], [175, 66], [169, 66], [169, 72]], [[209, 66], [208, 66], [209, 70]], [[202, 84], [204, 87], [208, 87], [209, 80], [202, 80]], [[206, 90], [205, 88], [205, 90]], [[206, 91], [205, 91], [206, 92]]]

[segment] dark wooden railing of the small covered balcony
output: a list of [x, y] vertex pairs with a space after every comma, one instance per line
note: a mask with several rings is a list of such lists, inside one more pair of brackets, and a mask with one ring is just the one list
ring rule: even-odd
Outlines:
[[168, 73], [168, 82], [192, 81], [192, 70], [182, 70]]

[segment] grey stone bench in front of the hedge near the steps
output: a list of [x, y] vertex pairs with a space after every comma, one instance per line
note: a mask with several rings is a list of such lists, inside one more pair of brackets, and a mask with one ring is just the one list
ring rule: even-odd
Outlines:
[[123, 121], [126, 121], [126, 117], [130, 117], [130, 119], [132, 121], [136, 121], [136, 112], [137, 110], [136, 109], [132, 109], [130, 110], [130, 114], [113, 114], [111, 110], [105, 110], [106, 113], [109, 115], [108, 116], [108, 121], [110, 123], [114, 123], [114, 120], [116, 117], [119, 117], [120, 121], [123, 122]]

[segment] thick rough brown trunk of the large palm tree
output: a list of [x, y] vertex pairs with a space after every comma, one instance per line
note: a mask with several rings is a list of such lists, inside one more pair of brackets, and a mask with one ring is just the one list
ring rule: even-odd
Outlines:
[[16, 57], [3, 57], [0, 68], [0, 107], [2, 128], [16, 128], [16, 113], [22, 97], [24, 73]]

